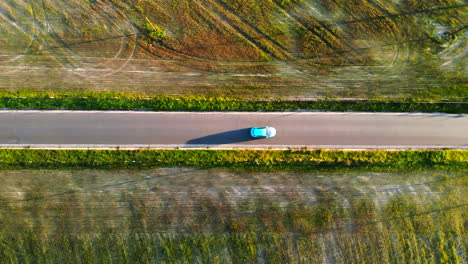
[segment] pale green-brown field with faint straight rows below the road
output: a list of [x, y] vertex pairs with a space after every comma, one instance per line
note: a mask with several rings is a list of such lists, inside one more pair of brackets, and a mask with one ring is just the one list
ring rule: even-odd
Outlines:
[[465, 258], [463, 170], [3, 170], [0, 180], [3, 245], [24, 241], [15, 252], [0, 246], [11, 258], [30, 256], [36, 243], [33, 258], [55, 260], [74, 250], [148, 263]]

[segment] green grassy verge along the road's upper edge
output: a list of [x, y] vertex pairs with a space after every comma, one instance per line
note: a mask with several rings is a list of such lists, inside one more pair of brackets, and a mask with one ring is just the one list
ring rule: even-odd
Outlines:
[[468, 113], [466, 102], [415, 100], [264, 100], [239, 97], [146, 96], [125, 93], [3, 92], [0, 108], [144, 111], [363, 111]]

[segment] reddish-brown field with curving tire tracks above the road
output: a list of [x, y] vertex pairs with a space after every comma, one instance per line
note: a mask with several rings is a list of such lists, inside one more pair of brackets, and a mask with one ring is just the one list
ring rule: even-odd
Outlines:
[[5, 0], [0, 89], [462, 100], [466, 9], [457, 0]]

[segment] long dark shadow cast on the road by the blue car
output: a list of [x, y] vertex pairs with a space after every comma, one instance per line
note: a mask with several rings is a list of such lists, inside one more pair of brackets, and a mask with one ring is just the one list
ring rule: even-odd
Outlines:
[[188, 145], [222, 145], [256, 140], [250, 136], [250, 128], [226, 131], [205, 137], [194, 138], [186, 142]]

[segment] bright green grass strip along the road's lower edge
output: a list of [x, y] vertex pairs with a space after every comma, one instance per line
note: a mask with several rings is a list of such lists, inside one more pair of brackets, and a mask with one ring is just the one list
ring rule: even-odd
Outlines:
[[309, 170], [337, 168], [468, 168], [468, 151], [344, 150], [39, 150], [0, 149], [0, 169], [157, 167]]

